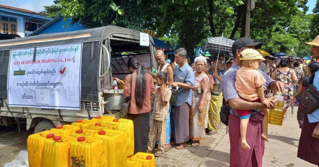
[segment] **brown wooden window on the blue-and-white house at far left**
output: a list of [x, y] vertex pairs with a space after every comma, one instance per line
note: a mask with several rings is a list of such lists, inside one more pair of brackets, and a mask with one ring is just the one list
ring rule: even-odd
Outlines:
[[18, 25], [17, 18], [15, 17], [0, 17], [0, 32], [6, 34], [17, 34], [18, 33]]

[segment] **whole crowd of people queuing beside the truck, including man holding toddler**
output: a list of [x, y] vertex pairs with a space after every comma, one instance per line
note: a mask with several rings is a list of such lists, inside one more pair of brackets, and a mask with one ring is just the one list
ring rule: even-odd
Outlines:
[[[167, 62], [164, 52], [157, 50], [157, 73], [145, 73], [140, 61], [130, 58], [132, 74], [125, 78], [123, 94], [131, 95], [127, 117], [134, 122], [134, 152], [153, 152], [157, 141], [157, 157], [173, 144], [184, 149], [189, 140], [191, 147], [198, 147], [206, 135], [218, 133], [219, 112], [229, 105], [230, 166], [261, 167], [264, 141], [269, 141], [267, 109], [277, 104], [274, 97], [265, 98], [264, 91], [279, 91], [284, 96], [286, 117], [287, 109], [298, 104], [295, 96], [308, 84], [319, 90], [319, 75], [315, 75], [319, 36], [308, 44], [313, 54], [309, 63], [262, 57], [255, 50], [262, 43], [249, 38], [234, 41], [233, 59], [198, 56], [190, 66], [184, 48], [175, 51], [174, 62]], [[172, 102], [176, 87], [176, 101]], [[319, 165], [319, 109], [306, 114], [299, 107], [297, 119], [302, 128], [298, 157]]]

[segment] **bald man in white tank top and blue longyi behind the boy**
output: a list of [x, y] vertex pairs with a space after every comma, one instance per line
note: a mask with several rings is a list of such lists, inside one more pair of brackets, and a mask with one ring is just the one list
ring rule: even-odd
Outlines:
[[[164, 71], [167, 74], [167, 83], [174, 82], [174, 72], [173, 66], [166, 62], [166, 56], [164, 51], [157, 50], [155, 52], [155, 59], [159, 66], [157, 73]], [[156, 79], [156, 74], [151, 73], [152, 77]], [[171, 114], [172, 104], [169, 104], [169, 111], [168, 111], [168, 118], [166, 122], [166, 140], [165, 140], [165, 147], [164, 151], [167, 152], [171, 148], [170, 140], [171, 140], [171, 124], [170, 124], [170, 114]]]

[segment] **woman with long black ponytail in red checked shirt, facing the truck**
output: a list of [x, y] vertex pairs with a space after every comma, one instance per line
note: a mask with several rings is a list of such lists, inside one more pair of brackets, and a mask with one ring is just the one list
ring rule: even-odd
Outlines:
[[[134, 124], [134, 154], [146, 152], [150, 124], [151, 93], [155, 92], [153, 78], [145, 73], [141, 62], [130, 58], [127, 62], [130, 75], [125, 77], [123, 95], [131, 95], [127, 118]], [[132, 83], [130, 82], [132, 77]]]

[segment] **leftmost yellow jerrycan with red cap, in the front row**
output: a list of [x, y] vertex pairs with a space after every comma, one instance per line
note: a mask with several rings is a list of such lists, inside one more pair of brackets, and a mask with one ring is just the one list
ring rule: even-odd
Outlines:
[[53, 138], [56, 134], [51, 131], [43, 131], [30, 135], [26, 141], [28, 150], [29, 167], [42, 167], [43, 147], [46, 139]]

